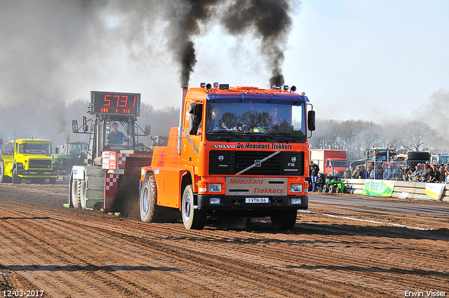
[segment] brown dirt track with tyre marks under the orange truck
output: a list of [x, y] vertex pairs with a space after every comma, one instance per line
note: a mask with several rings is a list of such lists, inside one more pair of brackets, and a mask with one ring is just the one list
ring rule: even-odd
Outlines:
[[[314, 207], [311, 198], [319, 213], [300, 212], [285, 233], [267, 219], [187, 231], [63, 208], [67, 191], [0, 184], [0, 297], [449, 297], [449, 217]], [[343, 218], [354, 216], [410, 227]]]

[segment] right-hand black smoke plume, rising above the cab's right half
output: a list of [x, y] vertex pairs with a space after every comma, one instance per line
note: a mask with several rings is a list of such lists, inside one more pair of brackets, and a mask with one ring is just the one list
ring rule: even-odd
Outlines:
[[284, 83], [283, 52], [292, 28], [289, 15], [292, 10], [293, 0], [234, 0], [221, 18], [222, 25], [230, 34], [252, 32], [261, 40], [260, 53], [272, 71], [269, 82], [276, 86]]

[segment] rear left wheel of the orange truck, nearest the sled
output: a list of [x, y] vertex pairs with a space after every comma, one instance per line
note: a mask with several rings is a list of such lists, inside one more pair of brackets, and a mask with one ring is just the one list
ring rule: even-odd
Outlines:
[[157, 187], [154, 173], [145, 177], [139, 196], [140, 220], [142, 222], [162, 222], [162, 207], [157, 205]]

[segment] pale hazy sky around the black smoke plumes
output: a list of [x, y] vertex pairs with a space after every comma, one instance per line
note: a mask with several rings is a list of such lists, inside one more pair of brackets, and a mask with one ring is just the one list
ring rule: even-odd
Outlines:
[[[147, 6], [123, 8], [138, 1], [76, 3], [0, 0], [0, 105], [104, 90], [142, 93], [156, 109], [179, 106], [180, 67], [159, 30], [166, 20]], [[302, 0], [292, 15], [283, 76], [317, 118], [425, 121], [417, 111], [449, 103], [449, 1]], [[190, 87], [269, 87], [260, 41], [229, 36], [213, 18], [201, 32]]]

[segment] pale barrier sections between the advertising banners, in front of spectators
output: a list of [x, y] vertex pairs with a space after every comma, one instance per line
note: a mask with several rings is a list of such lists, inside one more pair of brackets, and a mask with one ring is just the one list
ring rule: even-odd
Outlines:
[[[342, 180], [350, 194], [362, 194], [365, 185], [364, 179], [344, 179]], [[404, 182], [395, 181], [393, 194], [394, 198], [413, 198], [415, 200], [434, 200], [449, 203], [449, 184], [444, 184], [443, 194], [438, 200], [426, 194], [426, 184], [424, 182]]]

